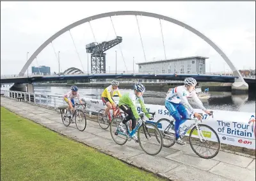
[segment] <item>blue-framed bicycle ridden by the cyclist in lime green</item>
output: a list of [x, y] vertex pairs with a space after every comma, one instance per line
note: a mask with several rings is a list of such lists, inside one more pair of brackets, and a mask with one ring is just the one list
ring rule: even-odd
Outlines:
[[[152, 114], [154, 119], [154, 115], [156, 113], [149, 113], [149, 114]], [[134, 130], [130, 129], [129, 122], [125, 123], [126, 134], [121, 132], [118, 129], [118, 124], [122, 122], [122, 119], [118, 117], [113, 118], [112, 122], [110, 123], [111, 137], [113, 138], [115, 143], [117, 143], [118, 145], [124, 145], [127, 141], [131, 141], [132, 134], [136, 133], [136, 131], [138, 130], [137, 143], [140, 143], [142, 150], [148, 153], [148, 155], [157, 155], [162, 150], [162, 146], [163, 146], [163, 139], [162, 139], [161, 132], [156, 125], [146, 122], [144, 118], [145, 118], [145, 114], [141, 113], [140, 120], [137, 122], [137, 125], [134, 128]], [[143, 138], [144, 135], [145, 135], [145, 138]], [[153, 136], [156, 136], [157, 139], [153, 140], [152, 139], [154, 138]], [[118, 138], [120, 138], [120, 141], [118, 141]], [[153, 141], [153, 143], [148, 144], [148, 141]], [[147, 150], [148, 148], [149, 150]]]

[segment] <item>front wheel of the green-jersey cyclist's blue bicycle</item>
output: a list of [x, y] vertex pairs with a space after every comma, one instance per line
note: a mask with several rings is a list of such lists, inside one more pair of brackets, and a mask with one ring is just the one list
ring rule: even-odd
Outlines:
[[144, 152], [148, 155], [157, 155], [163, 147], [162, 134], [156, 125], [143, 123], [138, 129], [138, 140]]

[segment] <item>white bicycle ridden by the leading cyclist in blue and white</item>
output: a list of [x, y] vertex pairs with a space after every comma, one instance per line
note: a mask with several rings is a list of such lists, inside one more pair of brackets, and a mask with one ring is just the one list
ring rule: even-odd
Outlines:
[[[204, 120], [207, 117], [207, 114], [205, 114], [205, 115], [206, 115], [205, 118], [203, 117]], [[211, 111], [211, 114], [209, 114], [209, 116], [212, 116], [212, 118], [213, 118], [213, 111]], [[188, 118], [188, 120], [195, 120], [195, 122], [192, 123], [191, 125], [189, 125], [189, 127], [186, 127], [186, 125], [184, 125], [183, 128], [180, 127], [180, 129], [179, 129], [180, 138], [182, 139], [185, 136], [185, 134], [191, 129], [190, 132], [188, 132], [189, 133], [188, 139], [189, 139], [189, 145], [191, 146], [193, 152], [195, 152], [196, 155], [198, 155], [199, 157], [202, 157], [204, 159], [211, 159], [211, 158], [215, 157], [218, 154], [218, 152], [220, 151], [220, 147], [221, 147], [220, 138], [219, 138], [218, 134], [216, 133], [216, 131], [214, 129], [212, 129], [212, 127], [210, 127], [209, 125], [201, 124], [200, 122], [202, 122], [202, 121], [198, 120], [197, 118]], [[175, 144], [175, 125], [173, 124], [174, 121], [175, 121], [174, 119], [171, 121], [166, 118], [162, 118], [162, 119], [158, 120], [158, 122], [156, 123], [157, 127], [159, 127], [159, 129], [162, 129], [161, 134], [163, 137], [163, 146], [164, 147], [171, 147]], [[166, 129], [164, 129], [165, 126], [166, 126]], [[209, 129], [210, 131], [202, 130], [202, 128], [204, 128], [204, 127]], [[182, 132], [182, 129], [184, 132], [181, 134], [180, 132]], [[196, 137], [199, 138], [199, 141], [195, 141]], [[217, 139], [217, 141], [213, 140], [215, 138]], [[170, 143], [166, 143], [166, 142], [168, 142], [168, 140], [170, 140]], [[193, 145], [193, 141], [196, 142], [196, 144], [195, 144], [197, 146], [196, 148]], [[207, 143], [207, 141], [209, 143]], [[204, 148], [203, 148], [203, 155], [201, 155], [199, 153], [202, 148], [199, 150], [199, 152], [197, 152], [196, 149], [202, 143], [204, 143], [206, 145], [210, 145], [209, 148], [211, 150], [214, 150], [211, 146], [216, 147], [216, 151], [214, 151], [214, 154], [212, 154], [211, 156], [204, 155]], [[206, 151], [206, 153], [208, 153], [208, 152], [211, 153], [211, 151], [206, 147], [205, 147], [205, 151]]]

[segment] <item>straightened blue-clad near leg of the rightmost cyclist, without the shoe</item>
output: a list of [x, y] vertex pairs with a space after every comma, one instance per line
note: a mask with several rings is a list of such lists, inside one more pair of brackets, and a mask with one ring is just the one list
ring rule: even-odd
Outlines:
[[182, 122], [182, 119], [180, 118], [180, 113], [177, 109], [179, 104], [175, 104], [172, 102], [169, 102], [168, 100], [165, 101], [165, 107], [170, 112], [170, 116], [172, 116], [175, 119], [175, 138], [179, 138], [179, 127], [180, 122]]

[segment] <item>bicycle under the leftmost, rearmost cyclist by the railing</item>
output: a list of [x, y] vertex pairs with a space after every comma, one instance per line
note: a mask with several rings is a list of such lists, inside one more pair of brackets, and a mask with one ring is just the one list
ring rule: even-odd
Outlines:
[[[78, 107], [79, 106], [79, 107]], [[84, 114], [84, 112], [82, 111], [83, 107], [82, 106], [86, 106], [86, 104], [74, 104], [74, 113], [71, 116], [67, 116], [67, 109], [65, 111], [65, 113], [62, 113], [61, 111], [61, 119], [63, 124], [68, 127], [70, 125], [70, 123], [74, 123], [73, 119], [75, 117], [75, 123], [76, 123], [76, 127], [78, 130], [83, 131], [86, 128], [86, 116]], [[71, 114], [71, 112], [70, 112]], [[68, 118], [68, 121], [66, 121], [66, 118]], [[78, 120], [77, 120], [78, 119]], [[82, 123], [84, 120], [84, 123]], [[81, 123], [81, 127], [79, 127], [78, 125]]]

